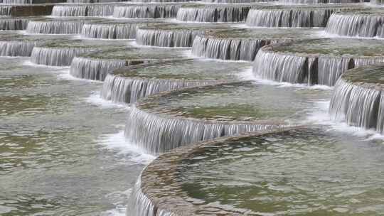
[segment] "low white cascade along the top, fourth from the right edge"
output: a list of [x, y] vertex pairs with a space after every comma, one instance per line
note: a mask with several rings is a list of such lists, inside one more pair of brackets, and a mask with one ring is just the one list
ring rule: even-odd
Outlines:
[[115, 6], [116, 18], [174, 18], [181, 4], [143, 4]]

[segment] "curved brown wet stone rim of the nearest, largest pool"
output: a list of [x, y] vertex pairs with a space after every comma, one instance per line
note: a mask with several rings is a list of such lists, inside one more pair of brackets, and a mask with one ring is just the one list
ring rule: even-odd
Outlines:
[[[238, 136], [224, 136], [213, 141], [204, 141], [197, 144], [190, 144], [164, 153], [152, 161], [140, 177], [141, 192], [148, 198], [153, 205], [154, 215], [161, 210], [174, 213], [176, 215], [196, 215], [198, 212], [203, 215], [215, 215], [211, 207], [198, 205], [198, 200], [190, 198], [183, 191], [181, 183], [177, 181], [178, 164], [188, 158], [192, 153], [201, 151], [203, 146], [220, 146], [220, 143], [239, 141], [243, 138], [252, 136], [262, 136], [267, 134], [279, 134], [284, 131], [295, 131], [306, 128], [305, 126], [288, 126], [286, 128], [269, 129], [265, 131], [249, 132]], [[219, 210], [220, 215], [241, 215], [240, 212]]]

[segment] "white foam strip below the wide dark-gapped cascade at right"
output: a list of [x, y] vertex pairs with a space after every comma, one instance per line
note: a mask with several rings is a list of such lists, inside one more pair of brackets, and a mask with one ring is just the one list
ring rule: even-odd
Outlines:
[[273, 85], [276, 87], [296, 87], [300, 89], [309, 89], [309, 90], [333, 90], [334, 87], [330, 87], [327, 85], [307, 85], [307, 84], [293, 84], [289, 82], [277, 82], [273, 80], [265, 80], [260, 77], [257, 77], [253, 72], [252, 72], [252, 67], [247, 68], [243, 70], [242, 72], [238, 73], [238, 77], [240, 80], [245, 80], [245, 81], [253, 81], [262, 85]]

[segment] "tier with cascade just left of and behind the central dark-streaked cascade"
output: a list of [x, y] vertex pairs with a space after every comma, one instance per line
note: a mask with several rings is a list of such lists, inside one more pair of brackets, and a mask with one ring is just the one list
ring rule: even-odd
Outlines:
[[191, 47], [196, 36], [213, 29], [228, 28], [223, 24], [160, 24], [143, 26], [137, 30], [139, 45], [160, 47]]

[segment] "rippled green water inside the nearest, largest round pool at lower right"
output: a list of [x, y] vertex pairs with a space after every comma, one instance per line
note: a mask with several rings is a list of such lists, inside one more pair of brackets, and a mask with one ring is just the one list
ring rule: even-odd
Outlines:
[[250, 215], [382, 215], [382, 141], [324, 129], [206, 146], [179, 166], [200, 205]]

